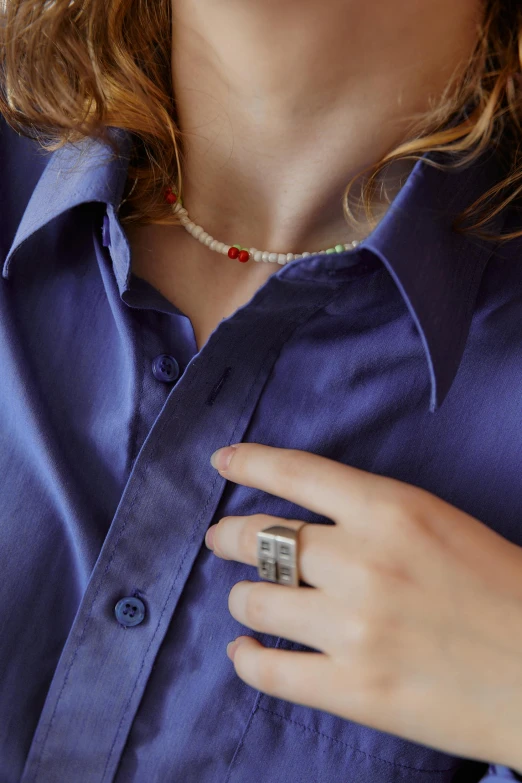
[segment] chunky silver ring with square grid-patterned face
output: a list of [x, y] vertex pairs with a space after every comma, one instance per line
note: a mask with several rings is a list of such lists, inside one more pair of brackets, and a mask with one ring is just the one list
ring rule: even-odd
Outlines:
[[298, 534], [283, 525], [273, 525], [257, 533], [257, 573], [262, 579], [280, 585], [299, 587]]

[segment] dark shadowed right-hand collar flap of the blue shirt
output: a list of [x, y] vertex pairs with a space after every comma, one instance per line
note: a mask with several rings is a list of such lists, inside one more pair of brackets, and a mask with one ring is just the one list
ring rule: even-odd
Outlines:
[[[490, 148], [467, 168], [441, 170], [423, 156], [377, 228], [364, 242], [388, 269], [420, 334], [431, 381], [430, 412], [443, 403], [457, 374], [480, 283], [498, 243], [460, 235], [453, 218], [499, 181]], [[505, 210], [489, 223], [500, 233]]]

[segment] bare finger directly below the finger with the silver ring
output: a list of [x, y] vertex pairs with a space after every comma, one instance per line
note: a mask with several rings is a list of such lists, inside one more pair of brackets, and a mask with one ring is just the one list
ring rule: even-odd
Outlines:
[[243, 581], [230, 590], [228, 608], [232, 617], [253, 631], [282, 636], [321, 652], [342, 648], [347, 655], [356, 641], [356, 623], [350, 623], [341, 604], [321, 590]]

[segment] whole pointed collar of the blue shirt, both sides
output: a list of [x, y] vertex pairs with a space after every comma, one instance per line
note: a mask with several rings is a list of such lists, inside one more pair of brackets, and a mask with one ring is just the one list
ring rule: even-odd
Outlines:
[[[68, 209], [99, 201], [107, 204], [109, 214], [117, 213], [131, 134], [120, 128], [110, 132], [118, 143], [118, 157], [92, 139], [52, 153], [4, 261], [4, 278], [19, 263], [23, 242]], [[441, 170], [424, 163], [428, 155], [437, 159], [436, 153], [427, 153], [415, 163], [384, 218], [360, 247], [387, 268], [418, 329], [431, 382], [429, 409], [434, 412], [457, 373], [482, 275], [495, 250], [494, 243], [453, 232], [451, 220], [498, 181], [499, 162], [490, 149], [470, 167]], [[502, 212], [491, 228], [499, 232], [504, 220]], [[122, 293], [131, 276], [130, 254], [117, 256], [122, 268], [115, 268], [115, 274]]]

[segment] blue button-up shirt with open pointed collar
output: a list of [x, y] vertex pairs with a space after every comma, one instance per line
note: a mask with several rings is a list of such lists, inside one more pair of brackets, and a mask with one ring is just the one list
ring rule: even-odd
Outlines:
[[330, 523], [210, 465], [250, 441], [417, 485], [522, 545], [522, 243], [450, 228], [496, 156], [418, 161], [357, 249], [281, 266], [198, 351], [132, 273], [114, 135], [117, 157], [49, 154], [1, 126], [1, 783], [522, 779], [244, 683], [228, 594], [257, 572], [204, 544], [225, 515]]

